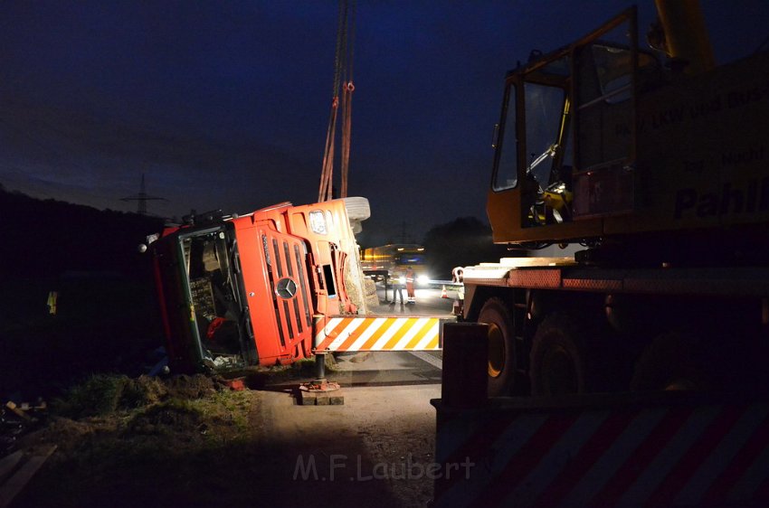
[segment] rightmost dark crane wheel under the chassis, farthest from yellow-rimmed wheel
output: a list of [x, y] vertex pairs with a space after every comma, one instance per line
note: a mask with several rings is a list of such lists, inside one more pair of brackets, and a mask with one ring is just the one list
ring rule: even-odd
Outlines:
[[707, 390], [702, 345], [688, 334], [660, 334], [641, 353], [631, 390]]

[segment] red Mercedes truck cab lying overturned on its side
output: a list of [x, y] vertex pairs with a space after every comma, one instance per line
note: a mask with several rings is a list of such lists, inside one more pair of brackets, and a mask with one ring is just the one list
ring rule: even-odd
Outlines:
[[353, 230], [365, 198], [190, 217], [150, 243], [169, 366], [202, 372], [295, 362], [314, 320], [366, 313]]

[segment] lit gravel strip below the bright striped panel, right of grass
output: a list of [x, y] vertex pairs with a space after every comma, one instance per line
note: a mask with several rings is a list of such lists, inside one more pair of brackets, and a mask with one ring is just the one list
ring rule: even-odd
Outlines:
[[284, 450], [274, 480], [322, 496], [319, 505], [425, 506], [432, 480], [424, 468], [435, 448], [430, 399], [440, 396], [440, 386], [343, 391], [344, 405], [315, 407], [260, 394], [261, 408], [252, 415], [259, 435]]

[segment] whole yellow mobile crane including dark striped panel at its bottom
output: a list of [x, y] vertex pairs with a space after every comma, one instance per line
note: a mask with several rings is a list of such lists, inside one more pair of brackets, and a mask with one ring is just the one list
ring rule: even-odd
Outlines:
[[436, 507], [769, 505], [769, 53], [658, 8], [508, 73], [494, 240], [584, 249], [455, 269]]

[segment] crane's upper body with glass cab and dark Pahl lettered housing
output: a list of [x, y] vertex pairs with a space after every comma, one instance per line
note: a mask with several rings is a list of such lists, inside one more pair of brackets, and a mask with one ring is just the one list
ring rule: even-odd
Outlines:
[[[595, 264], [702, 264], [702, 249], [710, 265], [764, 262], [769, 94], [757, 70], [769, 52], [715, 66], [696, 18], [665, 23], [653, 46], [664, 65], [639, 50], [631, 8], [508, 72], [487, 200], [496, 243], [579, 243], [577, 261]], [[698, 44], [677, 54], [673, 40]]]

